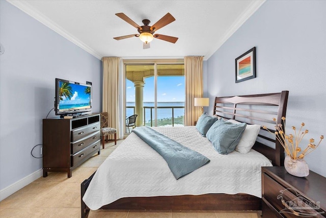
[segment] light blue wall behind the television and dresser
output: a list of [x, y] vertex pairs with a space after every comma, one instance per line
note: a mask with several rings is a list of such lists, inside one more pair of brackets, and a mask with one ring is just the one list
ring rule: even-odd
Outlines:
[[[42, 168], [31, 156], [54, 107], [55, 78], [93, 83], [101, 107], [101, 61], [6, 1], [0, 1], [0, 189]], [[51, 111], [49, 117], [55, 116]]]

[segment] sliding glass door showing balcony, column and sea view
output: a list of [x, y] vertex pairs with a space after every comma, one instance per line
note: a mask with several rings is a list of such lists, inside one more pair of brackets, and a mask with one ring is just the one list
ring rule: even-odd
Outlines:
[[183, 126], [183, 60], [125, 63], [125, 87], [126, 118], [137, 114], [134, 126], [126, 123], [126, 133], [138, 126]]

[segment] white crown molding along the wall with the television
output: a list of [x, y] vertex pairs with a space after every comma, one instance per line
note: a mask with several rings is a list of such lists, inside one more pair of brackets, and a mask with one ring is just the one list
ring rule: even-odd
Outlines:
[[43, 23], [46, 27], [50, 28], [51, 30], [57, 32], [64, 38], [68, 39], [81, 49], [85, 50], [89, 54], [93, 55], [97, 59], [101, 60], [102, 55], [98, 54], [95, 50], [91, 49], [88, 45], [86, 45], [84, 42], [80, 41], [73, 35], [69, 34], [66, 30], [64, 30], [62, 27], [57, 25], [57, 23], [50, 20], [48, 17], [41, 14], [39, 11], [37, 11], [35, 8], [31, 7], [28, 3], [25, 1], [17, 1], [17, 0], [7, 0], [10, 4], [17, 7], [21, 11], [25, 12], [26, 14], [30, 15], [34, 19], [38, 20], [39, 22]]

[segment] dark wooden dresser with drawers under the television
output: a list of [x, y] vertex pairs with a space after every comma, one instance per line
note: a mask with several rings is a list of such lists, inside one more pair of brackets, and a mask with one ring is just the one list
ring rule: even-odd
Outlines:
[[43, 177], [67, 172], [100, 154], [100, 114], [43, 119]]

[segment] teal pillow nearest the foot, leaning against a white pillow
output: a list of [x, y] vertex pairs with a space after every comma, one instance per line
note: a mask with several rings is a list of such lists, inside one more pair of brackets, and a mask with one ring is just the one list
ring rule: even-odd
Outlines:
[[232, 124], [223, 119], [216, 121], [207, 131], [206, 137], [220, 154], [233, 152], [247, 124]]

